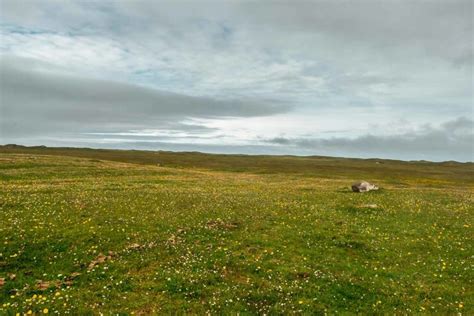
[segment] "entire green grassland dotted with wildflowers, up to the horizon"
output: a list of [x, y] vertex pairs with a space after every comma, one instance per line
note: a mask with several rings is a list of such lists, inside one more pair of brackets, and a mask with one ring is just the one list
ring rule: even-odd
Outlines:
[[454, 162], [0, 146], [0, 314], [472, 315], [473, 192]]

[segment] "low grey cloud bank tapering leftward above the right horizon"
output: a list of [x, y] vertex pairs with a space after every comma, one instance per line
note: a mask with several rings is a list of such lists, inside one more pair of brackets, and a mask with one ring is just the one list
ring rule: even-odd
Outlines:
[[265, 140], [277, 146], [290, 146], [317, 154], [343, 156], [396, 157], [399, 159], [474, 160], [474, 121], [460, 117], [440, 126], [426, 125], [395, 135], [362, 135], [355, 138], [286, 138]]

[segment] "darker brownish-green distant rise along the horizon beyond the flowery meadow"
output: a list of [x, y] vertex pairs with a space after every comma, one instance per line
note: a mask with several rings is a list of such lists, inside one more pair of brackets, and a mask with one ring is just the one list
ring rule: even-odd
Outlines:
[[354, 179], [390, 176], [393, 181], [400, 181], [407, 177], [423, 177], [474, 182], [474, 164], [453, 161], [436, 163], [324, 156], [228, 155], [200, 152], [27, 147], [15, 144], [0, 146], [0, 153], [72, 156], [143, 165], [159, 164], [175, 168], [259, 174], [287, 173], [303, 174], [309, 177], [349, 176]]

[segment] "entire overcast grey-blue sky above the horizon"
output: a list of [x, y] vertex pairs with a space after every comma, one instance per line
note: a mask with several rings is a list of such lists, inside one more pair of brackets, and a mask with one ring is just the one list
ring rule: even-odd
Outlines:
[[473, 2], [0, 0], [0, 144], [474, 159]]

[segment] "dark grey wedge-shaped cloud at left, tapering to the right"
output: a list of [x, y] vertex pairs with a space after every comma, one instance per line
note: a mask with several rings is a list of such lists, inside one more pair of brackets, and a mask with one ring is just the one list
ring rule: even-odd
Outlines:
[[[0, 125], [6, 138], [41, 133], [173, 129], [180, 121], [193, 117], [253, 117], [289, 110], [286, 105], [262, 100], [193, 97], [70, 76], [26, 59], [3, 58], [1, 65]], [[191, 127], [180, 124], [180, 128]]]

